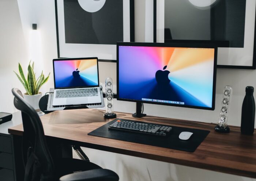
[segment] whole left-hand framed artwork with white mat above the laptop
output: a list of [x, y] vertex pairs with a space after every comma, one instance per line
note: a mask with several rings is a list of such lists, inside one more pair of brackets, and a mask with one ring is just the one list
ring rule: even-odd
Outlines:
[[59, 57], [116, 60], [116, 42], [134, 39], [132, 3], [134, 0], [55, 0]]

